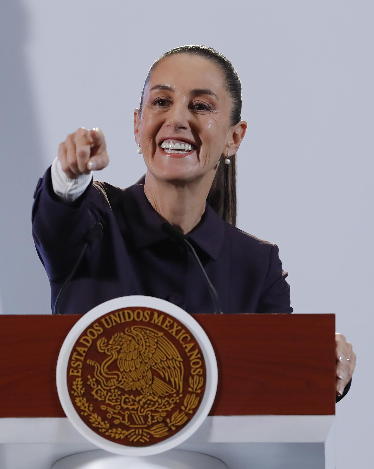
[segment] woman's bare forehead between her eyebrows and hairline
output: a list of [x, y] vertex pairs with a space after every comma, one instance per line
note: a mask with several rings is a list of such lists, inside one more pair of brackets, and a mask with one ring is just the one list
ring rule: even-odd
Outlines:
[[187, 53], [175, 54], [163, 59], [153, 70], [146, 92], [158, 84], [169, 85], [176, 92], [188, 94], [195, 89], [209, 89], [219, 98], [225, 98], [222, 71], [215, 63]]

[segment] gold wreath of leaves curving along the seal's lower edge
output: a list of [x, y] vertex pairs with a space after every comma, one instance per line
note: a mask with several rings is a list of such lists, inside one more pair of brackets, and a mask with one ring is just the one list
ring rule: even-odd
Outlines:
[[[197, 407], [200, 397], [196, 394], [201, 393], [201, 387], [203, 385], [203, 378], [202, 376], [194, 375], [193, 377], [190, 376], [188, 383], [188, 393], [184, 398], [183, 405], [180, 406], [171, 416], [171, 418], [166, 419], [167, 425], [164, 423], [155, 424], [151, 428], [132, 428], [130, 430], [122, 430], [121, 428], [111, 428], [111, 425], [108, 421], [104, 421], [96, 412], [93, 411], [92, 404], [87, 402], [87, 399], [84, 397], [85, 388], [83, 387], [82, 378], [76, 378], [72, 384], [72, 391], [71, 393], [75, 396], [75, 405], [81, 409], [82, 416], [90, 416], [89, 421], [93, 427], [98, 428], [101, 433], [104, 433], [105, 436], [109, 436], [113, 439], [129, 439], [129, 441], [136, 442], [139, 441], [141, 443], [146, 443], [150, 440], [150, 437], [154, 438], [164, 438], [169, 435], [169, 429], [176, 430], [176, 428], [180, 425], [183, 425], [188, 420], [187, 414], [192, 414], [194, 408]], [[96, 398], [96, 396], [94, 395]], [[96, 398], [97, 399], [97, 398]], [[107, 410], [108, 417], [113, 416], [113, 409], [107, 406], [100, 406], [102, 410]], [[115, 415], [114, 415], [115, 416]], [[120, 423], [121, 417], [117, 417], [114, 420], [114, 423]], [[119, 418], [118, 418], [119, 417]]]

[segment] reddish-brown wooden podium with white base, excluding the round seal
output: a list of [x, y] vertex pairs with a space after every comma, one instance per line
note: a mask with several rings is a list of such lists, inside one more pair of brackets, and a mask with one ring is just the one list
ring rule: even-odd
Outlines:
[[[81, 316], [0, 316], [0, 468], [50, 469], [96, 447], [60, 406], [60, 347]], [[335, 468], [335, 316], [193, 315], [217, 356], [209, 417], [179, 449], [230, 469]]]

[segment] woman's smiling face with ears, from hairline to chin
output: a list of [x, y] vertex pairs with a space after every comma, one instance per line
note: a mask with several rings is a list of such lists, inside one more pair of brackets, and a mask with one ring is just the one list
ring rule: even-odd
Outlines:
[[135, 140], [148, 171], [170, 182], [212, 181], [221, 155], [235, 153], [245, 133], [245, 122], [231, 126], [231, 109], [214, 63], [188, 53], [162, 60], [145, 88], [141, 116], [135, 110]]

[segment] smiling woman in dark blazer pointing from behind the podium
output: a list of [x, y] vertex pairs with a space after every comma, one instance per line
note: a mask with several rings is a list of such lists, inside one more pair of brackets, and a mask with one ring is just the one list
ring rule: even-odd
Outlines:
[[[78, 129], [38, 182], [33, 235], [52, 290], [52, 307], [90, 227], [104, 226], [68, 287], [64, 313], [85, 313], [117, 296], [157, 296], [190, 313], [212, 312], [202, 272], [166, 234], [168, 221], [190, 242], [225, 313], [292, 312], [276, 245], [235, 228], [235, 154], [247, 123], [232, 64], [204, 46], [165, 53], [151, 67], [135, 141], [147, 172], [125, 190], [92, 182], [109, 163], [98, 129]], [[208, 204], [206, 202], [208, 201]], [[337, 334], [337, 395], [348, 390], [355, 355]]]

